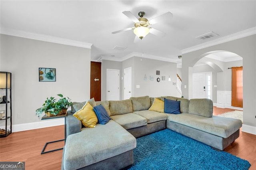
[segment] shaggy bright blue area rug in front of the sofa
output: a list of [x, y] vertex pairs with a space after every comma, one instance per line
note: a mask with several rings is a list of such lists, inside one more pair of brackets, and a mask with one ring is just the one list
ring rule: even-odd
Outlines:
[[250, 163], [164, 129], [137, 138], [130, 170], [248, 170]]

